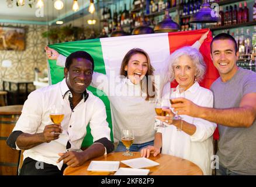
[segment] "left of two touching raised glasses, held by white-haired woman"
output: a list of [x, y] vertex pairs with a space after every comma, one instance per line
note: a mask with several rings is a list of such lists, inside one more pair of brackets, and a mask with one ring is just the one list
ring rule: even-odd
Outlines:
[[[158, 98], [155, 102], [155, 113], [158, 116], [167, 116], [168, 112], [162, 109], [169, 109], [169, 99]], [[156, 127], [167, 127], [164, 122], [161, 121], [160, 124], [157, 124]]]

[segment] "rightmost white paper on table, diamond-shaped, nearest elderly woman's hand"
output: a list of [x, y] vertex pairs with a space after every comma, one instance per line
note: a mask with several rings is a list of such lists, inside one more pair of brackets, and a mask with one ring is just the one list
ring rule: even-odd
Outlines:
[[123, 160], [121, 161], [123, 164], [128, 165], [131, 168], [148, 168], [153, 167], [155, 165], [159, 165], [159, 163], [152, 161], [148, 158], [141, 157], [141, 158], [133, 158], [129, 160]]

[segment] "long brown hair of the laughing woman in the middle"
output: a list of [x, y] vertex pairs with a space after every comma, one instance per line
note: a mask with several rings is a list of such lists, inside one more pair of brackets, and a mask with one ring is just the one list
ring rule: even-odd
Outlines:
[[[134, 49], [131, 49], [130, 51], [128, 51], [126, 53], [126, 55], [123, 58], [122, 65], [121, 65], [121, 68], [120, 68], [120, 75], [124, 75], [125, 77], [127, 77], [127, 71], [125, 71], [124, 69], [125, 69], [126, 65], [128, 65], [130, 58], [134, 54], [143, 54], [147, 58], [148, 70], [147, 70], [147, 73], [145, 75], [146, 82], [145, 81], [140, 81], [140, 85], [142, 87], [141, 90], [143, 88], [146, 88], [147, 97], [146, 97], [145, 100], [148, 101], [150, 98], [154, 98], [155, 97], [155, 83], [154, 83], [154, 80], [153, 80], [154, 68], [153, 68], [153, 66], [150, 63], [150, 58], [149, 58], [148, 54], [144, 50], [139, 49], [139, 48], [134, 48]], [[148, 91], [148, 82], [151, 82], [150, 85], [152, 85], [153, 93], [151, 93], [151, 94]]]

